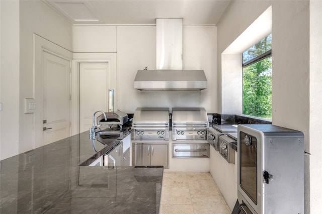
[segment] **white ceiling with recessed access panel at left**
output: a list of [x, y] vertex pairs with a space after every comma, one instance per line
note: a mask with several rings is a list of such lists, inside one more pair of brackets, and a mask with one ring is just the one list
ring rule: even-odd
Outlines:
[[72, 24], [154, 25], [182, 18], [184, 25], [216, 25], [230, 0], [43, 0]]

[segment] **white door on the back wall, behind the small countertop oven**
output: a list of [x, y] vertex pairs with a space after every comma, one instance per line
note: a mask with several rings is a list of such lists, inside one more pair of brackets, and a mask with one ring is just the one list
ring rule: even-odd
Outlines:
[[85, 132], [93, 125], [94, 112], [108, 112], [109, 70], [107, 63], [81, 63], [79, 69], [79, 131]]

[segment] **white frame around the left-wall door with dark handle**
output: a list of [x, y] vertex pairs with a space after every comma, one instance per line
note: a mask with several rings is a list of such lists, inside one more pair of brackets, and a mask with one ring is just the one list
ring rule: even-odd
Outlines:
[[[42, 95], [43, 95], [43, 75], [42, 75], [42, 60], [43, 60], [43, 52], [47, 52], [53, 54], [57, 57], [65, 59], [70, 62], [72, 61], [72, 52], [37, 35], [33, 34], [33, 42], [34, 42], [34, 64], [33, 64], [33, 96], [28, 98], [33, 98], [36, 102], [36, 111], [33, 113], [33, 121], [34, 121], [34, 145], [33, 148], [38, 148], [43, 146], [42, 142], [42, 127], [43, 127], [43, 115], [42, 115]], [[71, 79], [71, 78], [70, 78]], [[69, 92], [71, 92], [71, 81], [69, 80]], [[70, 103], [71, 104], [71, 103]], [[69, 105], [71, 106], [71, 105]], [[69, 109], [69, 117], [71, 118], [71, 108]], [[71, 131], [71, 130], [70, 130]], [[70, 132], [71, 133], [71, 132]]]

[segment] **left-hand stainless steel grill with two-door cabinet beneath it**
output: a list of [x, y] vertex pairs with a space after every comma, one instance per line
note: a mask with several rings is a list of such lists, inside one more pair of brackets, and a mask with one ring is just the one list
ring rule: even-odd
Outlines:
[[169, 108], [137, 108], [132, 122], [133, 166], [169, 168]]

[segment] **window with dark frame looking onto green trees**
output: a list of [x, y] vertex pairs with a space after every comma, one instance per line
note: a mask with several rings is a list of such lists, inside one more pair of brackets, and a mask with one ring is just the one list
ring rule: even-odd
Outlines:
[[272, 34], [243, 53], [243, 114], [272, 118]]

